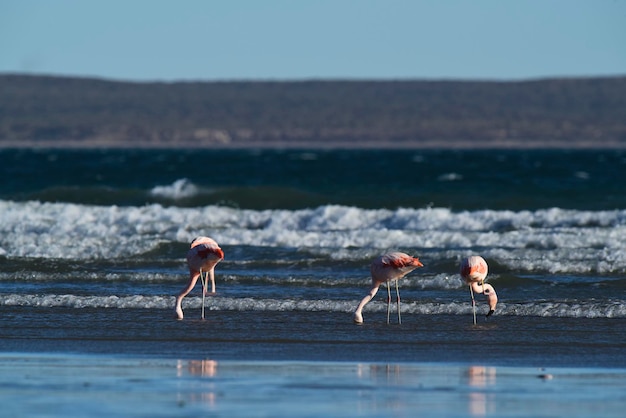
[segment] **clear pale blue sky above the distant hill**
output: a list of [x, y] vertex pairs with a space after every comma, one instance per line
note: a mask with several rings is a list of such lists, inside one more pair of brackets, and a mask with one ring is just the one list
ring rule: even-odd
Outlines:
[[0, 72], [135, 81], [626, 75], [626, 0], [0, 0]]

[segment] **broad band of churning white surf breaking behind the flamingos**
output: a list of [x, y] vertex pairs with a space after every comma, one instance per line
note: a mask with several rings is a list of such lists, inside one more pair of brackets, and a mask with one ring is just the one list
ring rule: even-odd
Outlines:
[[[222, 245], [310, 248], [334, 259], [386, 249], [462, 256], [515, 271], [626, 272], [626, 210], [301, 210], [0, 201], [0, 256], [111, 259], [209, 235]], [[350, 251], [348, 251], [350, 250]]]

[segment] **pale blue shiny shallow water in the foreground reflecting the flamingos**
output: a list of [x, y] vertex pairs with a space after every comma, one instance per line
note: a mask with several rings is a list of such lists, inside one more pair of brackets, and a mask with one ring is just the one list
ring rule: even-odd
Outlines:
[[9, 416], [619, 417], [626, 369], [2, 355]]

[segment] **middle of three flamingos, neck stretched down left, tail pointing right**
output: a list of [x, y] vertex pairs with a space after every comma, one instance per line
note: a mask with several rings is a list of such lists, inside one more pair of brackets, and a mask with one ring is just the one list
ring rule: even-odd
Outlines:
[[381, 284], [387, 285], [387, 323], [389, 323], [389, 313], [391, 309], [390, 282], [396, 283], [396, 300], [398, 305], [398, 323], [402, 323], [400, 318], [400, 291], [398, 290], [398, 280], [406, 276], [418, 267], [424, 267], [417, 257], [408, 254], [393, 252], [376, 258], [370, 267], [372, 274], [372, 287], [365, 295], [354, 312], [354, 322], [363, 323], [363, 307], [376, 296]]

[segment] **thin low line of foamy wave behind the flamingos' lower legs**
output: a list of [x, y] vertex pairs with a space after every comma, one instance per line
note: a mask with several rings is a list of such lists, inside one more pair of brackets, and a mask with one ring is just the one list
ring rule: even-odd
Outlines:
[[[186, 310], [199, 309], [201, 298], [185, 299]], [[275, 299], [275, 298], [227, 298], [212, 297], [206, 301], [209, 311], [257, 311], [257, 312], [344, 312], [352, 313], [358, 301]], [[8, 294], [0, 298], [0, 306], [24, 306], [32, 308], [104, 308], [104, 309], [173, 309], [174, 297], [168, 296], [77, 296], [77, 295], [29, 295]], [[479, 314], [482, 306], [478, 306]], [[385, 302], [372, 301], [365, 315], [385, 313]], [[470, 303], [409, 302], [402, 303], [403, 314], [415, 315], [471, 315]], [[626, 318], [623, 301], [536, 301], [527, 303], [500, 303], [496, 311], [500, 316], [557, 317], [557, 318]], [[494, 320], [496, 320], [494, 318]]]

